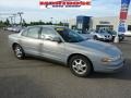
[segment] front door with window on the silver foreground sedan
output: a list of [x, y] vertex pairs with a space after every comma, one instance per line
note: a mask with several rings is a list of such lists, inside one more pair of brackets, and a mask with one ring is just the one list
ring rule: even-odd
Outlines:
[[57, 61], [64, 60], [64, 42], [57, 42], [51, 39], [59, 37], [53, 28], [44, 27], [41, 29], [43, 39], [43, 54], [46, 58], [53, 59]]

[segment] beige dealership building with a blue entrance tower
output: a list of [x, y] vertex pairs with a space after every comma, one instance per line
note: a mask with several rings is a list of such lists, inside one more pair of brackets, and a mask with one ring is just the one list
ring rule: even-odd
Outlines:
[[[76, 19], [69, 20], [69, 27], [76, 27], [78, 29], [99, 29], [107, 28], [118, 30], [119, 16], [76, 16]], [[126, 29], [131, 30], [131, 15], [126, 21]]]

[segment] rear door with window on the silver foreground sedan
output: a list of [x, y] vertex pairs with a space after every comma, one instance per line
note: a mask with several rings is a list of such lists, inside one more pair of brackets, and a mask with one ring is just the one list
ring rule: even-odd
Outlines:
[[40, 27], [31, 27], [22, 33], [21, 45], [26, 53], [39, 56]]

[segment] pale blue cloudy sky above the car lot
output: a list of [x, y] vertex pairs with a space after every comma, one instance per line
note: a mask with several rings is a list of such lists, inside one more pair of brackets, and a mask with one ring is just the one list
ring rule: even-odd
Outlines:
[[[92, 9], [88, 10], [55, 10], [39, 8], [39, 0], [0, 0], [0, 13], [24, 12], [25, 21], [64, 21], [73, 19], [76, 15], [88, 16], [117, 16], [119, 15], [121, 0], [93, 0]], [[129, 8], [131, 14], [131, 4]], [[0, 15], [0, 20], [7, 16]], [[19, 19], [19, 17], [17, 17]]]

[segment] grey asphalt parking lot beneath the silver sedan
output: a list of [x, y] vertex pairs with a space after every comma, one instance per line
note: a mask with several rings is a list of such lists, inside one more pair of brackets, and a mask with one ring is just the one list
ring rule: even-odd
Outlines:
[[130, 37], [115, 44], [126, 57], [122, 72], [82, 78], [47, 60], [17, 60], [9, 49], [9, 34], [0, 29], [0, 98], [131, 98]]

